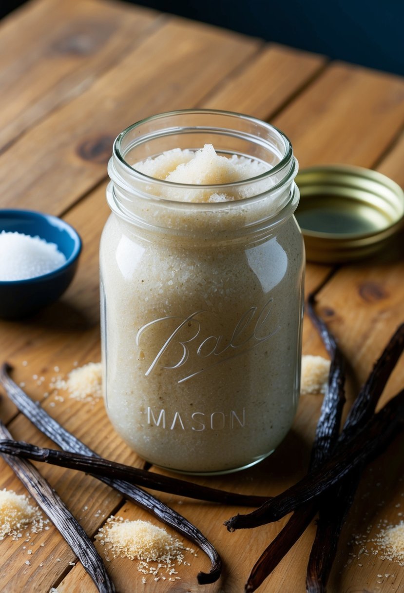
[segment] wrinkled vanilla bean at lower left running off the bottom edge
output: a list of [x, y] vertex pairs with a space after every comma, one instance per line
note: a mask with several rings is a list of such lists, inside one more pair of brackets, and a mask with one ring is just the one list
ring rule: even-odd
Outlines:
[[[11, 434], [0, 421], [0, 436], [12, 439]], [[70, 513], [59, 495], [29, 461], [1, 454], [21, 480], [30, 495], [53, 522], [60, 535], [67, 541], [86, 572], [91, 576], [100, 593], [114, 593], [115, 587], [105, 570], [100, 554], [79, 522]]]

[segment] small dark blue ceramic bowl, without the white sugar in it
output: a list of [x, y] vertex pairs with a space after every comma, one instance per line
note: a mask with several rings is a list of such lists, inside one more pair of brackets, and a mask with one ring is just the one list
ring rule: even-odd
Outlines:
[[81, 252], [81, 238], [66, 222], [56, 216], [31, 210], [1, 210], [0, 232], [22, 232], [56, 243], [66, 263], [53, 272], [27, 280], [0, 281], [0, 317], [17, 319], [56, 301], [75, 275]]

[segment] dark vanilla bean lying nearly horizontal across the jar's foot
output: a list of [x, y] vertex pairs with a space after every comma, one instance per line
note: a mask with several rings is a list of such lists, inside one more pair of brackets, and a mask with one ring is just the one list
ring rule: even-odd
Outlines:
[[260, 506], [268, 499], [266, 496], [234, 494], [232, 492], [226, 492], [226, 490], [198, 486], [198, 484], [193, 484], [192, 482], [161, 476], [150, 471], [116, 463], [115, 461], [108, 461], [102, 457], [36, 447], [36, 445], [31, 445], [23, 441], [0, 441], [0, 452], [33, 461], [50, 463], [54, 466], [85, 471], [92, 474], [92, 476], [125, 480], [130, 484], [144, 486], [152, 490], [169, 492], [179, 496], [188, 496], [189, 498], [207, 500], [209, 502], [220, 502], [228, 505]]

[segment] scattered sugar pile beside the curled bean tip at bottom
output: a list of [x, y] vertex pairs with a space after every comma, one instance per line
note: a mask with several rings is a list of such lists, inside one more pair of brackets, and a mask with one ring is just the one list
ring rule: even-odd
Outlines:
[[[162, 527], [149, 521], [124, 521], [122, 517], [107, 519], [95, 539], [102, 546], [109, 544], [107, 551], [111, 551], [114, 558], [140, 560], [137, 569], [145, 575], [158, 576], [162, 568], [169, 575], [177, 574], [174, 563], [180, 565], [184, 561], [184, 551], [194, 552]], [[150, 562], [154, 564], [150, 565]]]

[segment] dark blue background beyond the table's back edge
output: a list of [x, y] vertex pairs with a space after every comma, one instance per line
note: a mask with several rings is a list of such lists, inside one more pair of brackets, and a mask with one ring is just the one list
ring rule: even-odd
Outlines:
[[[22, 2], [3, 0], [0, 11], [5, 14]], [[404, 0], [137, 0], [133, 4], [404, 75]]]

